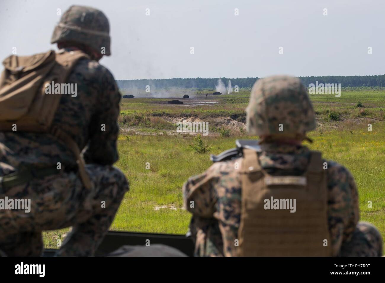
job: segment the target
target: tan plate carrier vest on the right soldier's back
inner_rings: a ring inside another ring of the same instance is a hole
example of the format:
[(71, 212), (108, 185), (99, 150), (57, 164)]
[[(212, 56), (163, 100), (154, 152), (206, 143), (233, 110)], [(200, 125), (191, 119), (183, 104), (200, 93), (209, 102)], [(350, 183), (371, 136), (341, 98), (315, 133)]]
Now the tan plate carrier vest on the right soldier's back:
[[(332, 255), (321, 152), (311, 151), (302, 176), (271, 176), (260, 166), (256, 151), (243, 149), (243, 156), (238, 255)], [(292, 210), (287, 207), (290, 199)]]

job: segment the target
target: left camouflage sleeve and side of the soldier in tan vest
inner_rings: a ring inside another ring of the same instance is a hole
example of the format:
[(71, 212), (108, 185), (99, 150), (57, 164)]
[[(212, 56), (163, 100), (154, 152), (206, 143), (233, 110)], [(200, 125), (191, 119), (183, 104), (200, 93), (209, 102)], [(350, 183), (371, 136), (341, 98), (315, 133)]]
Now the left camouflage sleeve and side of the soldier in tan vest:
[(235, 169), (239, 162), (216, 162), (183, 186), (184, 207), (192, 213), (189, 228), (196, 256), (236, 254), (229, 243), (237, 238), (241, 211), (241, 184)]

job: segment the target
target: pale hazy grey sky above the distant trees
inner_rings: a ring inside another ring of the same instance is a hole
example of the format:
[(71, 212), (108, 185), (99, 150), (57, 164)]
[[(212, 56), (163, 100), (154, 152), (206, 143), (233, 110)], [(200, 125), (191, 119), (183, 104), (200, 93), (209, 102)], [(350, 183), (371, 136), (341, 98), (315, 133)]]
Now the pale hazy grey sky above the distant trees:
[(109, 18), (116, 79), (385, 74), (383, 0), (2, 0), (0, 59), (55, 49), (71, 4)]

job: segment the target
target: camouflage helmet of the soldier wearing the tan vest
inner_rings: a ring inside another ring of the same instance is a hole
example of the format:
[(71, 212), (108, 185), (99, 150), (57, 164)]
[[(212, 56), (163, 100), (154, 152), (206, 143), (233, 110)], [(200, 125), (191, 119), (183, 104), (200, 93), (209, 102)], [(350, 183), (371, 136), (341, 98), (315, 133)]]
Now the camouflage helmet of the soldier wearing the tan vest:
[(257, 80), (246, 113), (247, 131), (258, 136), (308, 139), (305, 133), (316, 127), (307, 89), (295, 77), (278, 75)]

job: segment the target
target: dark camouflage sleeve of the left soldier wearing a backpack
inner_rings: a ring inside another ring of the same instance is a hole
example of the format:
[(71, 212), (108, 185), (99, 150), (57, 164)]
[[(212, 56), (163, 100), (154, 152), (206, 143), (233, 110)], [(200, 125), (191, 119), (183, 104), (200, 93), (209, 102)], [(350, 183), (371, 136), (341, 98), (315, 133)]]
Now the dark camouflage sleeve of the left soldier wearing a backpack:
[(117, 138), (121, 94), (113, 75), (105, 69), (101, 76), (100, 110), (95, 112), (90, 123), (90, 139), (84, 152), (86, 163), (112, 165), (118, 159)]

